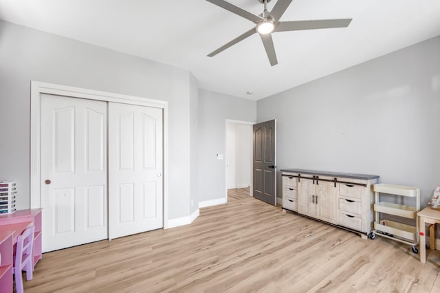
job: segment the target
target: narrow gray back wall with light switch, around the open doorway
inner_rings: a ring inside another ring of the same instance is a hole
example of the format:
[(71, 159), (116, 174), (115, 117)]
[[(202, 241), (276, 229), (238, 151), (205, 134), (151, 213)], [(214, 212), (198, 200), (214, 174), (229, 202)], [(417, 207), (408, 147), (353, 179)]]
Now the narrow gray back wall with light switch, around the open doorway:
[(199, 202), (225, 198), (226, 119), (255, 122), (256, 102), (199, 89)]

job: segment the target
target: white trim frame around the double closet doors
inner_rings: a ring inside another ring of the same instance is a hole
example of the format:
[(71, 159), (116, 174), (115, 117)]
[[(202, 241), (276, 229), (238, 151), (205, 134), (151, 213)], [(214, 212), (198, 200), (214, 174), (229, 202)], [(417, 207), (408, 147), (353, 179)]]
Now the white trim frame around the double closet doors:
[[(30, 93), (30, 208), (41, 208), (41, 94), (53, 94), (104, 102), (120, 102), (163, 109), (164, 228), (168, 228), (168, 102), (106, 91), (31, 81)], [(107, 191), (108, 192), (108, 191)]]

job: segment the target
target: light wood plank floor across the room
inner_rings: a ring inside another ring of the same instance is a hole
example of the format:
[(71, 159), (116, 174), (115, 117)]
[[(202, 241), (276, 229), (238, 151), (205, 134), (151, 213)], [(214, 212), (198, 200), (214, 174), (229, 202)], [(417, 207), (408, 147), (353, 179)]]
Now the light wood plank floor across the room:
[[(439, 292), (440, 257), (230, 191), (188, 226), (43, 255), (25, 292)], [(25, 276), (23, 274), (23, 276)]]

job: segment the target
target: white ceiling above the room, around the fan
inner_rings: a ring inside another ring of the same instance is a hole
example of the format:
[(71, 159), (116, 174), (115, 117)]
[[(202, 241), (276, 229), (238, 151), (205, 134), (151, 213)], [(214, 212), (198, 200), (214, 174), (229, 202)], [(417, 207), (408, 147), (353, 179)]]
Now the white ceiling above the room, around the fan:
[(258, 34), (207, 57), (254, 23), (204, 0), (0, 0), (5, 21), (189, 69), (203, 89), (254, 100), (440, 35), (439, 0), (294, 0), (281, 21), (333, 18), (353, 21), (273, 34), (271, 67)]

